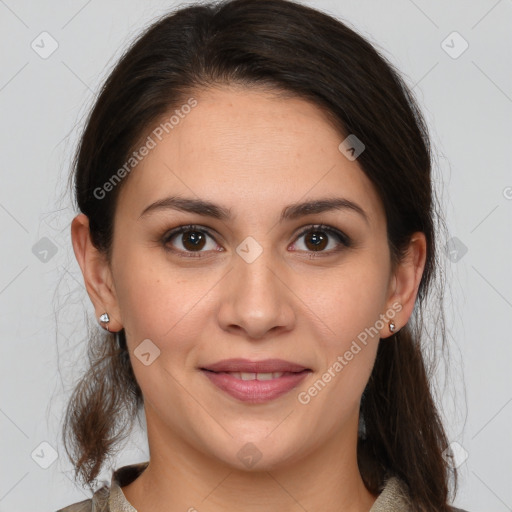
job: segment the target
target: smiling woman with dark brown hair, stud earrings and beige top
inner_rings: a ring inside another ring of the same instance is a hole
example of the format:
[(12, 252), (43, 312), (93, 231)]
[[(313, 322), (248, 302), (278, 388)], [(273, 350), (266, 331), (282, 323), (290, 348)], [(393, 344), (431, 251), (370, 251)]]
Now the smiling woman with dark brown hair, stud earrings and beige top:
[(429, 139), (366, 40), (285, 0), (185, 7), (122, 57), (74, 163), (105, 332), (66, 449), (92, 489), (143, 409), (150, 460), (61, 510), (454, 510)]

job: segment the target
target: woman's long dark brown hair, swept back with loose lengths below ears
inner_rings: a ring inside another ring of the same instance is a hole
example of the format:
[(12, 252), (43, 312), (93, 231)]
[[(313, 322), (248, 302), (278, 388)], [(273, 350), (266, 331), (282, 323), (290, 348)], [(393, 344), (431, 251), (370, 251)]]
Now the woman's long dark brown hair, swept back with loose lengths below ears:
[[(412, 233), (427, 239), (427, 259), (411, 321), (379, 342), (361, 401), (364, 425), (358, 460), (368, 489), (377, 494), (390, 475), (408, 486), (415, 511), (446, 511), (450, 476), (442, 452), (447, 438), (430, 389), (433, 367), (425, 348), (427, 297), (437, 290), (442, 226), (432, 187), (429, 136), (399, 73), (364, 38), (341, 21), (287, 0), (232, 0), (187, 6), (167, 14), (132, 44), (108, 76), (92, 109), (74, 159), (76, 202), (88, 216), (95, 246), (111, 254), (116, 198), (95, 191), (123, 166), (164, 115), (194, 91), (217, 85), (261, 86), (304, 98), (366, 149), (358, 162), (375, 185), (386, 213), (393, 262)], [(98, 331), (100, 331), (98, 329)], [(90, 370), (74, 389), (63, 426), (64, 445), (87, 484), (128, 434), (143, 405), (126, 348), (109, 333), (91, 335)], [(69, 449), (68, 449), (69, 447)]]

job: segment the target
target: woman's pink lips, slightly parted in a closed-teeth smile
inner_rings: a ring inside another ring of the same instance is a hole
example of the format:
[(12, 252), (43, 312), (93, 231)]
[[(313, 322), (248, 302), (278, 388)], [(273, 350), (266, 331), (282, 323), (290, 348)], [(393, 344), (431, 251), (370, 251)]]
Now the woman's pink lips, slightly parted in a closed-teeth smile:
[(285, 395), (312, 372), (310, 368), (281, 359), (229, 359), (200, 370), (217, 389), (251, 404), (265, 403)]

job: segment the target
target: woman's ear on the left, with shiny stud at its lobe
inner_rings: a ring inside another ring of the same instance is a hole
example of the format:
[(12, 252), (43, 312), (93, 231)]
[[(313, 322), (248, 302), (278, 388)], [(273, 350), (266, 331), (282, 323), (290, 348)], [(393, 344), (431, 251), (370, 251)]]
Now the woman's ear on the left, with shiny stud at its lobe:
[(93, 245), (89, 230), (89, 219), (83, 213), (71, 223), (71, 240), (75, 257), (82, 269), (85, 287), (94, 305), (96, 319), (108, 313), (111, 332), (120, 331), (123, 325), (117, 304), (115, 287), (106, 255)]

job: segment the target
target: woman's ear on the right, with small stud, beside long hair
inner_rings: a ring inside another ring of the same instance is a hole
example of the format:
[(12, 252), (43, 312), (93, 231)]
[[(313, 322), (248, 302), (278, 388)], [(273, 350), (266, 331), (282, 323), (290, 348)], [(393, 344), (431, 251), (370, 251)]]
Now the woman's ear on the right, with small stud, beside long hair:
[[(390, 280), (386, 303), (386, 316), (389, 320), (381, 329), (381, 338), (388, 338), (393, 334), (389, 330), (389, 322), (395, 324), (395, 332), (397, 332), (409, 321), (418, 295), (426, 257), (425, 234), (420, 231), (413, 233), (406, 254), (397, 264)], [(389, 314), (391, 311), (395, 312), (394, 317)]]

